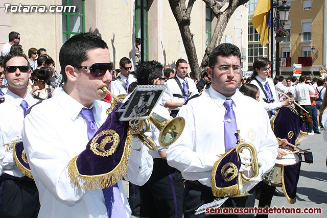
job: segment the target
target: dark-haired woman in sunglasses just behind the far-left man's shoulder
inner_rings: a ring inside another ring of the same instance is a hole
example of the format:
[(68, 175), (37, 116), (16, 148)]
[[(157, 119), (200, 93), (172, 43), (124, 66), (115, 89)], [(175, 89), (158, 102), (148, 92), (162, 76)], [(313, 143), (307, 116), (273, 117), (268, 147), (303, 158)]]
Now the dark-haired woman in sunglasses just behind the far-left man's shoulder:
[(54, 89), (50, 85), (50, 72), (47, 68), (41, 67), (39, 70), (35, 70), (32, 73), (31, 80), (34, 84), (30, 92), (31, 94), (41, 99), (51, 98)]

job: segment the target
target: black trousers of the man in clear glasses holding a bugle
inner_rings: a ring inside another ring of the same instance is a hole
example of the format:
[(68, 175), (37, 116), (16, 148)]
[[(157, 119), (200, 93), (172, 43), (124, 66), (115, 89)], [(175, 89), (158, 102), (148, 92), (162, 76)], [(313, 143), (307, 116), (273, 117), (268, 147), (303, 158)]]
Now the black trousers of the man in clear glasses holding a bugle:
[[(221, 206), (222, 208), (253, 208), (255, 202), (255, 188), (248, 193), (252, 196), (242, 198), (229, 198)], [(204, 217), (254, 217), (254, 214), (205, 214), (194, 215), (194, 211), (201, 205), (211, 203), (215, 197), (210, 187), (204, 186), (198, 181), (186, 182), (183, 197), (184, 218), (204, 218)]]

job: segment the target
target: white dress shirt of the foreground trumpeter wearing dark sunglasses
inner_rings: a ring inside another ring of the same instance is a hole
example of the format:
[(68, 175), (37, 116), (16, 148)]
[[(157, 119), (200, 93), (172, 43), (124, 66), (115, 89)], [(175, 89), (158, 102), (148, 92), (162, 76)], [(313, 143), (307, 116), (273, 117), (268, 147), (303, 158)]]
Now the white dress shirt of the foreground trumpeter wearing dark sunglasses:
[[(110, 104), (94, 101), (92, 106), (100, 127)], [(82, 108), (61, 89), (54, 98), (35, 106), (24, 120), (24, 147), (39, 190), (39, 217), (108, 217), (103, 191), (78, 188), (68, 177), (68, 162), (85, 150), (89, 141), (87, 123), (80, 114)], [(151, 176), (152, 166), (147, 148), (132, 149), (125, 179), (143, 185)], [(118, 187), (126, 215), (130, 217), (122, 181)]]

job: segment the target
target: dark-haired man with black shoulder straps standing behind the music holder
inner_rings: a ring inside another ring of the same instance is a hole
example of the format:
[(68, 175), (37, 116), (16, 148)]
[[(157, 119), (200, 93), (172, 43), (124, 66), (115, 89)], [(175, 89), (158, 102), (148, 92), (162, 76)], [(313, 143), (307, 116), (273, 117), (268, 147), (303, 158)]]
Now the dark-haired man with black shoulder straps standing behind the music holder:
[(194, 94), (199, 93), (194, 81), (188, 74), (188, 62), (178, 59), (175, 65), (176, 76), (167, 80), (168, 89), (162, 95), (162, 104), (169, 108), (175, 117), (184, 103)]

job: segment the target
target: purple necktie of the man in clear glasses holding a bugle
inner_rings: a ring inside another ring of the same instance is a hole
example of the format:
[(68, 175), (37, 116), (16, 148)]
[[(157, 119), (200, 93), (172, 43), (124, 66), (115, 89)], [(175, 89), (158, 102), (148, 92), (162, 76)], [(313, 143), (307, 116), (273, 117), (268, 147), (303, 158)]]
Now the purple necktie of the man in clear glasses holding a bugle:
[(233, 101), (231, 99), (226, 99), (224, 102), (224, 106), (226, 108), (224, 116), (225, 151), (237, 146), (238, 133), (232, 104)]

